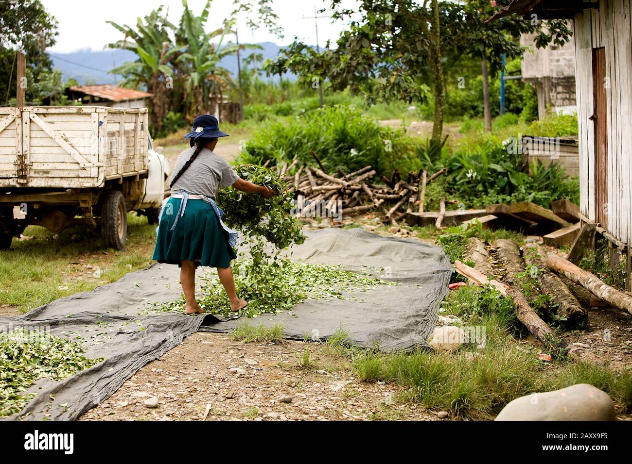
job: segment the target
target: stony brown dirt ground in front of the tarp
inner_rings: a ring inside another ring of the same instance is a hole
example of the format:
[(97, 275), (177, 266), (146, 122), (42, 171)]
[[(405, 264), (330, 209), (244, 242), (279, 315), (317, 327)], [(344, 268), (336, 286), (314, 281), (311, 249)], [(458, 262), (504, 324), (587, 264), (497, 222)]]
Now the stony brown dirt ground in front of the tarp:
[[(310, 364), (301, 367), (306, 349)], [(348, 360), (325, 345), (242, 343), (198, 332), (140, 369), (80, 420), (441, 420), (439, 415), (447, 415), (401, 402), (401, 393), (401, 387), (357, 381)], [(151, 397), (158, 399), (155, 408), (144, 403)]]

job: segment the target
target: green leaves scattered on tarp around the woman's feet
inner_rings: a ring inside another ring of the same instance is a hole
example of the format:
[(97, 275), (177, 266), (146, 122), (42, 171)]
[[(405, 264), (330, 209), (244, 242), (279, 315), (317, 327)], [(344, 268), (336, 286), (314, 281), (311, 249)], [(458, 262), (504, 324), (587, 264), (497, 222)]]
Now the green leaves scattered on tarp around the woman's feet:
[[(394, 282), (371, 277), (367, 273), (346, 271), (338, 266), (327, 266), (276, 259), (255, 264), (252, 259), (236, 261), (233, 266), (237, 294), (248, 302), (240, 314), (256, 318), (258, 314), (291, 311), (295, 304), (307, 299), (344, 299), (344, 292), (367, 289)], [(205, 312), (228, 316), (231, 304), (217, 276), (202, 277), (198, 304)], [(184, 298), (165, 304), (155, 304), (149, 311), (184, 312)]]

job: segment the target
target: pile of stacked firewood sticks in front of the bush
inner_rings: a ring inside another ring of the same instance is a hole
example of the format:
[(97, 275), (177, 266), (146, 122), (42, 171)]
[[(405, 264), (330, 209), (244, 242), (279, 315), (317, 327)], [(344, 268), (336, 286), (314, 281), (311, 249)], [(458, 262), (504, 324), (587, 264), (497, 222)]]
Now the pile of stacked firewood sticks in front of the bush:
[[(428, 175), (427, 170), (408, 172), (406, 177), (394, 170), (391, 177), (382, 175), (380, 182), (374, 182), (377, 174), (372, 166), (344, 174), (341, 170), (330, 174), (319, 158), (313, 154), (319, 167), (300, 165), (295, 160), (291, 164), (277, 165), (276, 172), (289, 184), (289, 191), (295, 193), (298, 208), (306, 215), (319, 203), (325, 205), (327, 213), (337, 211), (342, 205), (342, 214), (362, 211), (379, 211), (385, 222), (398, 226), (407, 213), (423, 212), (423, 199), (428, 182), (444, 174), (446, 169)], [(291, 170), (294, 175), (286, 175)], [(446, 200), (442, 199), (445, 210)], [(398, 226), (399, 227), (399, 226)]]

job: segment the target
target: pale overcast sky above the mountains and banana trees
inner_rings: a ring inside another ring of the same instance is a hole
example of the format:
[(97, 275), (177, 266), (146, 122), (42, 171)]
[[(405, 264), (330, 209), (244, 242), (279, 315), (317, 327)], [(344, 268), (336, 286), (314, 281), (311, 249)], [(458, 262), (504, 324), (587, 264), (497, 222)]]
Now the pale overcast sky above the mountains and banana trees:
[[(47, 11), (59, 22), (57, 44), (49, 51), (58, 53), (73, 52), (79, 49), (102, 50), (104, 45), (121, 39), (122, 34), (106, 21), (114, 21), (120, 25), (136, 25), (138, 16), (148, 15), (152, 9), (164, 4), (169, 8), (169, 20), (175, 24), (182, 15), (181, 0), (107, 0), (90, 3), (80, 0), (42, 0)], [(206, 0), (188, 0), (189, 8), (200, 13)], [(354, 0), (345, 2), (345, 6), (353, 6)], [(279, 25), (283, 28), (283, 39), (267, 33), (265, 30), (251, 32), (245, 29), (243, 19), (238, 22), (240, 42), (276, 42), (287, 45), (295, 35), (308, 44), (315, 44), (314, 20), (303, 19), (313, 16), (314, 6), (319, 9), (329, 6), (329, 1), (322, 0), (274, 0), (273, 9), (279, 16)], [(221, 27), (224, 18), (233, 11), (233, 0), (214, 0), (210, 7), (209, 30)], [(320, 16), (320, 15), (319, 15)], [(343, 23), (332, 24), (331, 19), (319, 20), (319, 45), (325, 45), (327, 39), (336, 40)]]

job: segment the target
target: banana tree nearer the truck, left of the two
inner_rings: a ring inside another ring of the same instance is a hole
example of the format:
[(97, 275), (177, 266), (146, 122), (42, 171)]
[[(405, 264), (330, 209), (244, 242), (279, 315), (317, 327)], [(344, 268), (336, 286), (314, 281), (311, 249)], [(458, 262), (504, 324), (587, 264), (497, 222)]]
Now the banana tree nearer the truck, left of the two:
[(129, 50), (138, 54), (137, 61), (126, 62), (111, 73), (125, 77), (124, 85), (138, 87), (144, 85), (150, 97), (149, 121), (152, 131), (156, 133), (162, 128), (166, 116), (169, 98), (167, 93), (173, 89), (173, 66), (170, 61), (178, 54), (171, 34), (176, 27), (162, 14), (162, 6), (154, 9), (148, 16), (138, 18), (134, 28), (120, 26), (114, 21), (107, 21), (112, 27), (125, 34), (125, 38), (107, 46), (112, 49)]

